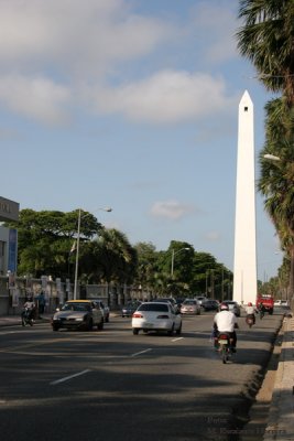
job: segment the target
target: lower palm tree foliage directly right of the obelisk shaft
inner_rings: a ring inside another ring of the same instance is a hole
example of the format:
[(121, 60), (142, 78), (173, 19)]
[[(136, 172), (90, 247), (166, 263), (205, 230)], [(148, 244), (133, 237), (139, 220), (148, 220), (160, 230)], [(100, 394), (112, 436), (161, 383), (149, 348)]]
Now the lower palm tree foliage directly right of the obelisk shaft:
[[(277, 232), (281, 247), (291, 261), (290, 294), (294, 295), (294, 125), (292, 109), (281, 112), (283, 103), (268, 104), (266, 136), (260, 154), (261, 178), (259, 190), (265, 196), (264, 207)], [(279, 161), (268, 161), (265, 153), (273, 153)]]

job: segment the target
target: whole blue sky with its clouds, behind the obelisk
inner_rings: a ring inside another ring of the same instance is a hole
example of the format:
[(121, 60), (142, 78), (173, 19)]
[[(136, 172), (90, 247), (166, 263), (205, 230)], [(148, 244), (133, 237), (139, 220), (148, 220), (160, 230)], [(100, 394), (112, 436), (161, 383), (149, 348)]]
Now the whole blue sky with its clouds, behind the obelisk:
[[(0, 0), (0, 195), (233, 270), (238, 106), (248, 90), (258, 180), (273, 97), (238, 53), (238, 6)], [(268, 281), (282, 252), (258, 193), (257, 250)]]

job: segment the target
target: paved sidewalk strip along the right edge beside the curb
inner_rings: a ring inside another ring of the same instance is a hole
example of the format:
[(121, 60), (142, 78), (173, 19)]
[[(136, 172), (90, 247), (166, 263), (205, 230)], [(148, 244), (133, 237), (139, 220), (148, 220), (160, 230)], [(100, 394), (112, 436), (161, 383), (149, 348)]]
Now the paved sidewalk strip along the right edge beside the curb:
[(272, 404), (263, 441), (294, 440), (294, 319), (285, 318)]

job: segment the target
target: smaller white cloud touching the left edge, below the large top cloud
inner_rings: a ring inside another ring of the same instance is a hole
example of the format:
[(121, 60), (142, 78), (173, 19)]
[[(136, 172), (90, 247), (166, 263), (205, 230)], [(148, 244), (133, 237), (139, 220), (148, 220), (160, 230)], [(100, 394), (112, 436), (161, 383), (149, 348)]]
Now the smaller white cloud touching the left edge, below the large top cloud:
[(64, 105), (70, 94), (66, 87), (43, 77), (0, 76), (0, 104), (8, 109), (51, 125), (67, 121)]

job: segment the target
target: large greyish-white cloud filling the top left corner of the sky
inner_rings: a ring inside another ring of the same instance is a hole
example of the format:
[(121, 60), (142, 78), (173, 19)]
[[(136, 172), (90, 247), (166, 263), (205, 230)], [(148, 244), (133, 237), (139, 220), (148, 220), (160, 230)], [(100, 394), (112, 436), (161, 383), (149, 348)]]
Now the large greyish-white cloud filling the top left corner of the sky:
[(175, 30), (132, 14), (123, 0), (0, 1), (0, 61), (26, 69), (57, 63), (81, 78), (143, 56)]

